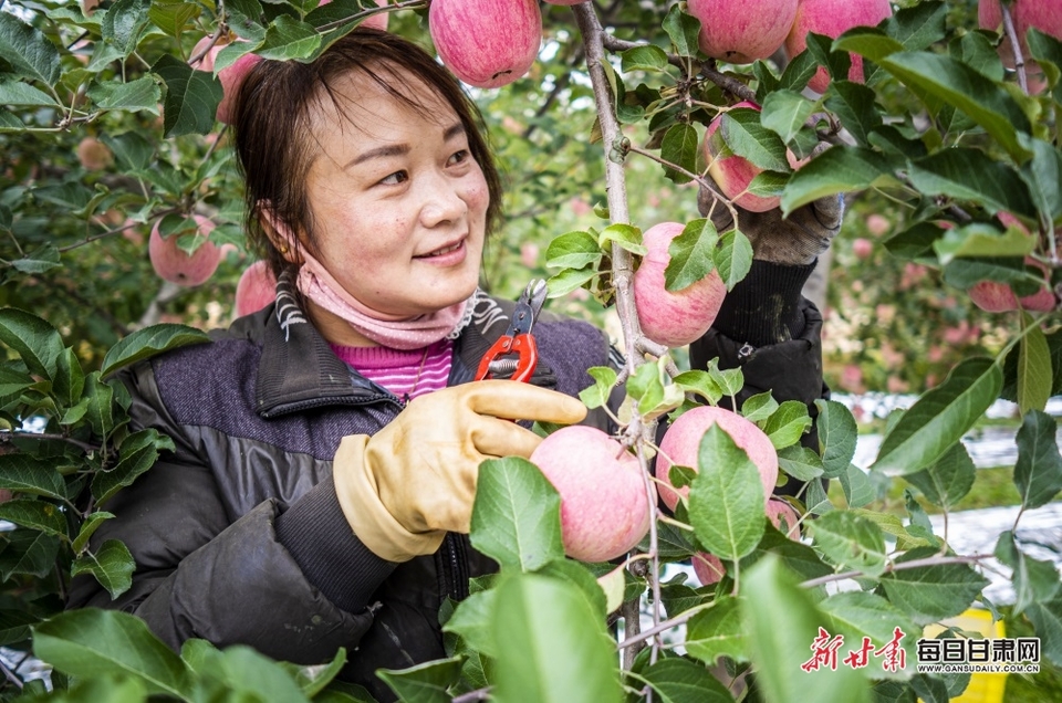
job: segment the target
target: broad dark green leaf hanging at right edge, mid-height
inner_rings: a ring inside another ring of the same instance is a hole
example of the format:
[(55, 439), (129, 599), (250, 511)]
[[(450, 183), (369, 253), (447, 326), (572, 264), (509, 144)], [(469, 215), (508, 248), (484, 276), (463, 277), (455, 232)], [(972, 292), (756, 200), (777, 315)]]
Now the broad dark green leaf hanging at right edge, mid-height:
[(1055, 439), (1058, 423), (1040, 410), (1030, 410), (1018, 429), (1014, 485), (1022, 510), (1040, 507), (1062, 491), (1062, 455)]

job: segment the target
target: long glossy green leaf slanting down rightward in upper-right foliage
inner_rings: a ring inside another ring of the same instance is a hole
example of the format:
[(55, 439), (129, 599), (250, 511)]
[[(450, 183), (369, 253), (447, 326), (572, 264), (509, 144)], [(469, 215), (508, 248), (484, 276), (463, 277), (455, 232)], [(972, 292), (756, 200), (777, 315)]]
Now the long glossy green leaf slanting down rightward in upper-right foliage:
[(1030, 132), (1029, 117), (1001, 85), (950, 56), (930, 52), (895, 53), (877, 63), (919, 95), (961, 109), (1016, 161), (1029, 158), (1017, 138), (1018, 132)]

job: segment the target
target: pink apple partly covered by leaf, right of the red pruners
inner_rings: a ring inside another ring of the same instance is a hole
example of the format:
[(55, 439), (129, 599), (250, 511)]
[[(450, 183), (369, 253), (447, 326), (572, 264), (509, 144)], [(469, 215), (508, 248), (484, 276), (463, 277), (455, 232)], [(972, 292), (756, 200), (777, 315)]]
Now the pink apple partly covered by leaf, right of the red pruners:
[(648, 252), (634, 273), (634, 304), (642, 332), (668, 347), (680, 347), (704, 336), (727, 295), (727, 286), (715, 269), (681, 291), (665, 287), (664, 271), (671, 260), (667, 248), (683, 229), (678, 222), (662, 222), (646, 230), (642, 241)]

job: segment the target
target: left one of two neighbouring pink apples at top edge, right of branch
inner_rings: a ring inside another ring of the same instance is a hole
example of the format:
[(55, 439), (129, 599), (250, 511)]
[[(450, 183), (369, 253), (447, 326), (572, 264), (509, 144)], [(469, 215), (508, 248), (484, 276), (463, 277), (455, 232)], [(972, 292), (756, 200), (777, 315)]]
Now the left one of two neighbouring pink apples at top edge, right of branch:
[(796, 0), (689, 0), (700, 20), (700, 50), (720, 61), (752, 63), (785, 41), (796, 19)]

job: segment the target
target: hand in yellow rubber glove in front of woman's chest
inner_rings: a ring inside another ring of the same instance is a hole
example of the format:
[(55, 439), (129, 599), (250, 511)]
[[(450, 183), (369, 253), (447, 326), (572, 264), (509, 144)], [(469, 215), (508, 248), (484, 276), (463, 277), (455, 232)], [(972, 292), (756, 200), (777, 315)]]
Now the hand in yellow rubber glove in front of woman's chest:
[(511, 420), (572, 424), (585, 416), (576, 398), (509, 380), (420, 396), (376, 434), (343, 438), (332, 468), (340, 506), (377, 556), (434, 554), (447, 532), (469, 531), (480, 462), (528, 458), (542, 441)]

